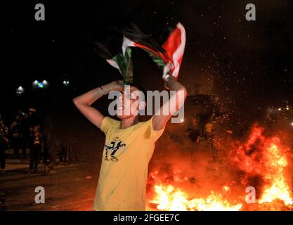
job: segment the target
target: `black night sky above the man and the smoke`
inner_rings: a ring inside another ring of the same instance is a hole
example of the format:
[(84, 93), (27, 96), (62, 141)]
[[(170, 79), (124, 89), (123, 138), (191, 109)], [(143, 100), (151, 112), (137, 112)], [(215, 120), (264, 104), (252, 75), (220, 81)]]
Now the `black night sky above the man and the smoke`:
[[(46, 20), (34, 20), (34, 6), (46, 7)], [(245, 6), (256, 5), (256, 21)], [(136, 23), (160, 44), (179, 21), (187, 35), (179, 80), (188, 94), (219, 96), (235, 117), (249, 120), (276, 101), (293, 104), (293, 1), (13, 1), (4, 5), (8, 39), (1, 73), (1, 113), (18, 105), (41, 105), (32, 94), (35, 79), (46, 79), (44, 96), (71, 109), (71, 98), (121, 79), (93, 50), (107, 27)], [(161, 72), (147, 54), (134, 50), (134, 80), (162, 89)], [(70, 80), (66, 90), (63, 79)], [(25, 96), (15, 97), (24, 86)], [(49, 96), (49, 97), (48, 97)], [(41, 106), (39, 106), (41, 107)], [(57, 107), (57, 106), (56, 106)], [(7, 115), (6, 115), (7, 116)]]

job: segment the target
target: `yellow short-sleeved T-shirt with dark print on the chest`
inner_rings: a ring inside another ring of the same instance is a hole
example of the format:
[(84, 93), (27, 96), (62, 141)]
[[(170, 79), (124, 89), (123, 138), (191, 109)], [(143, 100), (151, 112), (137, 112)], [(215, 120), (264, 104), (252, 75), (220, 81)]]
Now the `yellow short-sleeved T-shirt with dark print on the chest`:
[(105, 117), (106, 135), (93, 209), (96, 211), (145, 210), (148, 163), (164, 129), (155, 131), (152, 119), (119, 129), (120, 122)]

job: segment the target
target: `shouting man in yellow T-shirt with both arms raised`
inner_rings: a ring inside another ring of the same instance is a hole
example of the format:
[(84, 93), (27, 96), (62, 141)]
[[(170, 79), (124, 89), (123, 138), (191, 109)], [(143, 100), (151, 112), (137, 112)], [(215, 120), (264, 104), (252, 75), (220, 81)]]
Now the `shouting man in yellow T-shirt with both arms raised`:
[[(138, 122), (139, 107), (125, 113), (126, 107), (134, 105), (135, 98), (129, 98), (120, 81), (93, 89), (74, 98), (74, 104), (81, 113), (105, 133), (105, 147), (96, 190), (93, 210), (145, 210), (148, 163), (155, 148), (155, 142), (162, 135), (164, 127), (176, 110), (183, 106), (186, 89), (174, 77), (169, 77), (166, 86), (176, 91), (176, 104), (170, 103), (169, 114), (154, 115), (147, 122)], [(130, 94), (138, 89), (130, 87)], [(117, 103), (117, 117), (113, 120), (103, 116), (91, 104), (110, 91), (122, 91)], [(184, 98), (178, 98), (183, 94)], [(170, 100), (169, 100), (170, 101)]]

